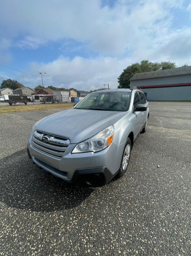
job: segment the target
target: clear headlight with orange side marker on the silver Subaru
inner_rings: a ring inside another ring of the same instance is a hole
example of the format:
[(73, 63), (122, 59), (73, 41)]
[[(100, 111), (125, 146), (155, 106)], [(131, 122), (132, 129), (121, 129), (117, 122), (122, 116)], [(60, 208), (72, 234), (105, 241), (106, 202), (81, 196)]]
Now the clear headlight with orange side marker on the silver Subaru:
[(111, 144), (113, 136), (114, 126), (111, 125), (97, 133), (94, 137), (77, 144), (72, 153), (97, 152), (105, 149)]

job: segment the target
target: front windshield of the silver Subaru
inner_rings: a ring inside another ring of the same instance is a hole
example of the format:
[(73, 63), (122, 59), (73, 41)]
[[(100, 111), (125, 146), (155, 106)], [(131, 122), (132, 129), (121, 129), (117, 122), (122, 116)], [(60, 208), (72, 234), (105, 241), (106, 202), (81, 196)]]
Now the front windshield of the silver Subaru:
[(75, 108), (106, 111), (127, 111), (130, 92), (91, 93), (79, 102)]

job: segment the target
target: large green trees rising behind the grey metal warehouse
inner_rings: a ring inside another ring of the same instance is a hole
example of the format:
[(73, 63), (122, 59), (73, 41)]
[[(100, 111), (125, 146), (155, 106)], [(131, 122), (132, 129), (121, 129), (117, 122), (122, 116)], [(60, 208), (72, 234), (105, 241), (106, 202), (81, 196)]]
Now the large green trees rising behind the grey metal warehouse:
[(123, 69), (122, 74), (117, 78), (118, 79), (118, 88), (129, 88), (130, 87), (130, 79), (136, 73), (156, 71), (160, 69), (169, 69), (176, 68), (176, 64), (174, 62), (162, 61), (151, 62), (148, 60), (142, 60), (140, 63), (134, 63), (128, 66), (126, 69)]

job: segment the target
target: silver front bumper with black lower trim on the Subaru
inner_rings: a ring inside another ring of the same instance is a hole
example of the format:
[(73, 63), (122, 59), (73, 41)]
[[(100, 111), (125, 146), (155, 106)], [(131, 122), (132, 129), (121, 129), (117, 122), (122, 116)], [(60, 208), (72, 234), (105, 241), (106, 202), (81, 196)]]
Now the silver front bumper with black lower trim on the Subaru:
[(54, 176), (77, 185), (98, 187), (107, 184), (117, 173), (124, 145), (112, 143), (100, 152), (71, 154), (75, 144), (70, 144), (62, 159), (50, 157), (35, 149), (29, 138), (28, 154), (32, 162)]

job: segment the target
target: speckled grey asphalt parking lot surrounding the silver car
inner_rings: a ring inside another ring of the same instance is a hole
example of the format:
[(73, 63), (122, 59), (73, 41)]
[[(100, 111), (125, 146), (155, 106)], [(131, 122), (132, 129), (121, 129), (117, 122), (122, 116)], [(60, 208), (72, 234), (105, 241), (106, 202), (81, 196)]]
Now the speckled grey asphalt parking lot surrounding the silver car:
[(60, 110), (0, 115), (0, 255), (190, 255), (191, 104), (151, 102), (128, 172), (101, 188), (29, 161), (33, 124)]

